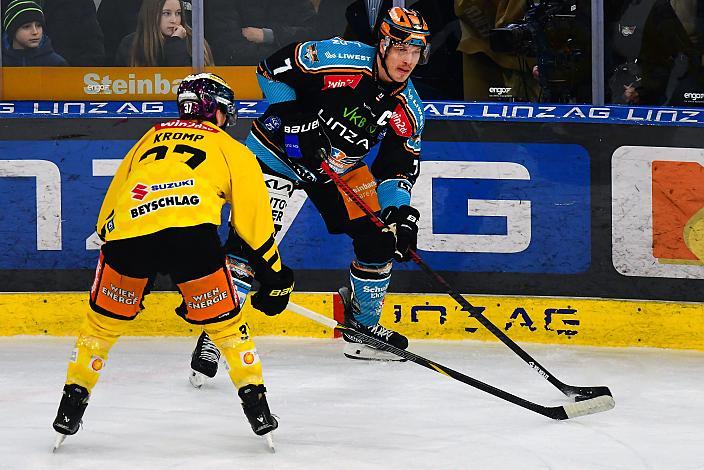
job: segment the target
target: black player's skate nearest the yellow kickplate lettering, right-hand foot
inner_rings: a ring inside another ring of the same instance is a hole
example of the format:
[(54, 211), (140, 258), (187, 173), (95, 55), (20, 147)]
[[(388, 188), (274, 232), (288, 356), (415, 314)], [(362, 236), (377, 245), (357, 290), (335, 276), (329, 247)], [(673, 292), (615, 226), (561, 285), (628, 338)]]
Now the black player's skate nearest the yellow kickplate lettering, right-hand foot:
[[(342, 287), (338, 291), (342, 298), (342, 304), (345, 308), (345, 325), (354, 328), (355, 330), (371, 336), (374, 339), (383, 341), (398, 349), (406, 349), (408, 347), (408, 338), (401, 333), (383, 327), (381, 324), (364, 326), (354, 318), (353, 302), (349, 288)], [(366, 361), (399, 361), (403, 362), (406, 359), (401, 358), (390, 352), (383, 351), (373, 346), (360, 343), (355, 338), (342, 333), (342, 338), (345, 340), (344, 355), (350, 359), (361, 359)]]

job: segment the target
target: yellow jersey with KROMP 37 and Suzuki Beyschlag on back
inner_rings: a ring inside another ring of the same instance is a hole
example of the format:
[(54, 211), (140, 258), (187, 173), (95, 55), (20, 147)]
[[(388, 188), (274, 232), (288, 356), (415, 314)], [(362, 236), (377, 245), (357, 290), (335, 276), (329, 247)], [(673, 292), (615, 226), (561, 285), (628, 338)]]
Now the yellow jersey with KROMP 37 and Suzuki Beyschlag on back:
[(220, 225), (226, 202), (235, 232), (252, 249), (262, 248), (264, 261), (280, 271), (269, 195), (254, 154), (210, 122), (177, 119), (152, 127), (127, 153), (103, 200), (97, 230), (110, 241), (170, 227)]

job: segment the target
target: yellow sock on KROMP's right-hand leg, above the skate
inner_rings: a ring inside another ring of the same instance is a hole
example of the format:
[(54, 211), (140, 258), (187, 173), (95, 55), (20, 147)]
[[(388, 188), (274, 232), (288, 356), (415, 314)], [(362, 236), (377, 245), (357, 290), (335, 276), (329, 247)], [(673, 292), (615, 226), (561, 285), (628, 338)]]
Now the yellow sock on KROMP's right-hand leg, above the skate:
[(221, 323), (208, 324), (205, 331), (225, 357), (230, 380), (237, 389), (264, 383), (262, 363), (242, 313)]

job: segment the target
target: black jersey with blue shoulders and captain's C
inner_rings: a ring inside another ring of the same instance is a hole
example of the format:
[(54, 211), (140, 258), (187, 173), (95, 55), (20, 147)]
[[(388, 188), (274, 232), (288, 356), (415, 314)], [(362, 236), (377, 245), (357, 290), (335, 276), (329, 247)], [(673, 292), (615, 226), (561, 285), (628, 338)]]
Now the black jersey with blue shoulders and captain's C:
[[(394, 187), (409, 193), (419, 172), (423, 106), (410, 80), (379, 81), (375, 63), (375, 47), (333, 38), (291, 44), (264, 60), (257, 73), (270, 103), (295, 101), (296, 107), (318, 115), (336, 172), (355, 167), (381, 142), (372, 174), (380, 185), (395, 181)], [(286, 175), (280, 163), (296, 164), (274, 137), (280, 126), (280, 119), (265, 113), (252, 134), (281, 160), (264, 163)]]

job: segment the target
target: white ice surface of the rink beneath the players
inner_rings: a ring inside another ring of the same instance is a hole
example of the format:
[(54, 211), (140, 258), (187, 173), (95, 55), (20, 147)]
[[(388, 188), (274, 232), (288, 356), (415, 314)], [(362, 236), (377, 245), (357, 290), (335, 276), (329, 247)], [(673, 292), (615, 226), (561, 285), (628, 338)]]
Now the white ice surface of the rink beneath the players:
[[(84, 427), (56, 454), (51, 422), (71, 338), (0, 338), (2, 469), (704, 469), (704, 353), (523, 345), (563, 382), (607, 385), (616, 408), (552, 421), (407, 363), (345, 359), (340, 340), (258, 338), (276, 454), (224, 369), (187, 380), (194, 338), (122, 338)], [(411, 349), (544, 405), (566, 398), (498, 343)]]

